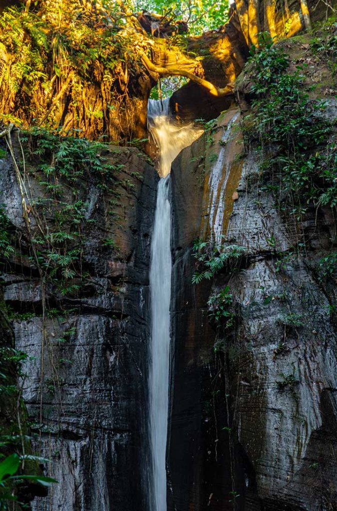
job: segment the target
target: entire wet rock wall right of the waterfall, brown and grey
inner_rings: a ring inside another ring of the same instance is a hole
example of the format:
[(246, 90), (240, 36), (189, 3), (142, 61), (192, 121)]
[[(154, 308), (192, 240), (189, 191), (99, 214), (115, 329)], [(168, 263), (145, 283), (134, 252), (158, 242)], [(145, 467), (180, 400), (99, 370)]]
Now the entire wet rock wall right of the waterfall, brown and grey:
[[(172, 167), (169, 509), (231, 509), (233, 487), (244, 511), (333, 509), (336, 286), (319, 280), (316, 265), (331, 250), (334, 219), (328, 209), (309, 210), (295, 226), (280, 213), (261, 190), (257, 154), (242, 152), (234, 118), (230, 110), (213, 142), (205, 133)], [(238, 317), (224, 354), (215, 357), (212, 284), (191, 284), (191, 245), (221, 234), (247, 254), (240, 271), (213, 282), (229, 283)], [(298, 256), (299, 241), (306, 253)]]

